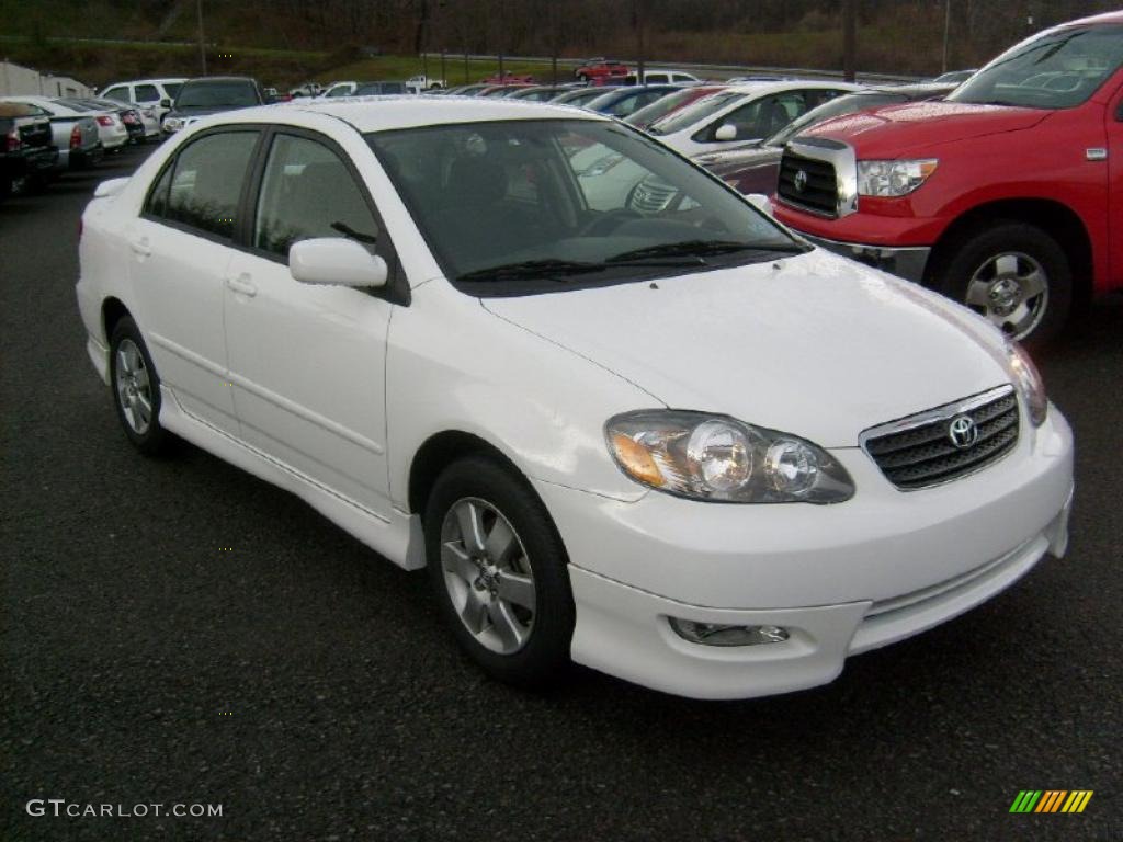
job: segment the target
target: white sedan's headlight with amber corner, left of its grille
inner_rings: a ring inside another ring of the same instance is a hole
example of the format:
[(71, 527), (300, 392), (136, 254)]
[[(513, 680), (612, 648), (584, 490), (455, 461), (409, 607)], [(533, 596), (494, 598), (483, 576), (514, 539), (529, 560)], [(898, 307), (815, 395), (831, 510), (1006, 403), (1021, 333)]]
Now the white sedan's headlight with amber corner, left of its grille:
[(818, 445), (724, 415), (641, 410), (604, 427), (617, 465), (638, 483), (721, 503), (841, 503), (846, 468)]

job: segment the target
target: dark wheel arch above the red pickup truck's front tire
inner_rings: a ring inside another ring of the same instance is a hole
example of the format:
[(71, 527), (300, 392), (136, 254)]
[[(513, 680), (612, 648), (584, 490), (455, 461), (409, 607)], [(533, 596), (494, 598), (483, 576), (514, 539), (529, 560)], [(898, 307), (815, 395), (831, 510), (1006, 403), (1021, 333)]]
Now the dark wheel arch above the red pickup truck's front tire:
[(996, 222), (1024, 222), (1049, 232), (1063, 249), (1072, 269), (1072, 304), (1090, 302), (1095, 286), (1095, 265), (1088, 229), (1068, 205), (1052, 199), (1002, 199), (976, 205), (960, 214), (935, 241), (924, 273), (924, 286), (933, 287), (951, 254), (985, 226)]

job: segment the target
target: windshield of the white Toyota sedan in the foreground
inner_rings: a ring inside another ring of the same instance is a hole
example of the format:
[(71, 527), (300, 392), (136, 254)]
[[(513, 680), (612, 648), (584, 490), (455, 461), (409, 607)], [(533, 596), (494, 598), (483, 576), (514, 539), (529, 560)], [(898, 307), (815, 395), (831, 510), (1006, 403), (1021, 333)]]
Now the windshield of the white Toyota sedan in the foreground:
[(622, 283), (805, 250), (737, 193), (617, 122), (455, 123), (367, 140), (446, 276), (472, 294)]

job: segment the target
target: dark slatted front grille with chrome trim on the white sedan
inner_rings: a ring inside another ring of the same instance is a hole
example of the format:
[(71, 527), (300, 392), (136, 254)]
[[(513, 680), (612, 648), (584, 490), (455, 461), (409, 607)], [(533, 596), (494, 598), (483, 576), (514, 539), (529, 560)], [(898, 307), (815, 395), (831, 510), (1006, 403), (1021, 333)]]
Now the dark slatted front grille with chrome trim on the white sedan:
[[(969, 418), (978, 432), (966, 447), (957, 446), (951, 434), (952, 421), (961, 417)], [(891, 483), (914, 491), (1001, 459), (1017, 443), (1017, 397), (1012, 386), (1003, 386), (867, 430), (861, 442)]]

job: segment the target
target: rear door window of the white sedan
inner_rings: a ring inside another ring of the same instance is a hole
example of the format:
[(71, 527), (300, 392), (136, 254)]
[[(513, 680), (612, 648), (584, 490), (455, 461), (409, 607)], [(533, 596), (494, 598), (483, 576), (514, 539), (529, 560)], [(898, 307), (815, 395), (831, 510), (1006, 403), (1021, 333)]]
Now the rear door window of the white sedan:
[(207, 234), (234, 236), (238, 198), (256, 131), (223, 131), (190, 143), (172, 168), (167, 219)]

